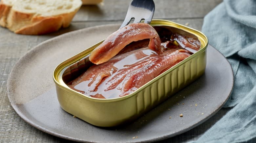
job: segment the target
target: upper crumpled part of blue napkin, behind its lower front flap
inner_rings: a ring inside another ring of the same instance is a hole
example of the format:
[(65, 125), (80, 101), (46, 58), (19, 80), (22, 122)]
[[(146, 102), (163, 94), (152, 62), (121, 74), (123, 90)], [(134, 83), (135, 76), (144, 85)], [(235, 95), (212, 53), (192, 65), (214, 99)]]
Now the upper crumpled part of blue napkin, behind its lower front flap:
[(233, 107), (256, 83), (256, 1), (224, 0), (205, 16), (202, 31), (232, 66), (234, 88), (224, 107)]

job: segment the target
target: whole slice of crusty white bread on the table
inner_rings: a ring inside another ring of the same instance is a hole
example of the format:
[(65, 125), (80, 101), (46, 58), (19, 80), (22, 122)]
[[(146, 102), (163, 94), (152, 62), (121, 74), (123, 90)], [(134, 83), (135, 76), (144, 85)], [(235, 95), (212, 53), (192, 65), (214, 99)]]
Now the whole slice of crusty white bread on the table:
[(68, 27), (81, 5), (81, 0), (1, 0), (0, 25), (17, 34), (46, 34)]

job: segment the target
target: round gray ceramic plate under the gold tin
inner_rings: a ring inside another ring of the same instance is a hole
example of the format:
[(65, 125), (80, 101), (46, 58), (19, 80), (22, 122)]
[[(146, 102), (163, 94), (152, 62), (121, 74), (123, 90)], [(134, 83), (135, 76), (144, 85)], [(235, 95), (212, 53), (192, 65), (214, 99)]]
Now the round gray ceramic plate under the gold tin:
[(54, 68), (105, 39), (118, 27), (102, 25), (63, 34), (23, 56), (11, 71), (7, 84), (8, 97), (17, 114), (35, 128), (69, 140), (148, 142), (186, 132), (224, 105), (233, 87), (233, 72), (224, 56), (209, 45), (205, 74), (135, 122), (111, 129), (99, 128), (66, 113), (57, 101), (52, 79)]

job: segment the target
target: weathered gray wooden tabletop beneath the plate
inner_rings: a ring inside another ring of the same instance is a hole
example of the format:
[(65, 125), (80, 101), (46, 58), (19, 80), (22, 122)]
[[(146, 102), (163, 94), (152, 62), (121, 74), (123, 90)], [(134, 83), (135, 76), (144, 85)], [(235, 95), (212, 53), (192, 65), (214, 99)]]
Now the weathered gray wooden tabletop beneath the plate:
[[(154, 19), (171, 20), (201, 30), (203, 17), (221, 2), (222, 0), (155, 0)], [(47, 39), (95, 25), (121, 24), (129, 3), (130, 0), (105, 0), (101, 5), (82, 6), (68, 28), (48, 35), (17, 35), (0, 27), (0, 142), (68, 142), (32, 127), (16, 114), (7, 97), (8, 75), (21, 56)], [(160, 142), (196, 140), (228, 110), (221, 109), (198, 127)]]

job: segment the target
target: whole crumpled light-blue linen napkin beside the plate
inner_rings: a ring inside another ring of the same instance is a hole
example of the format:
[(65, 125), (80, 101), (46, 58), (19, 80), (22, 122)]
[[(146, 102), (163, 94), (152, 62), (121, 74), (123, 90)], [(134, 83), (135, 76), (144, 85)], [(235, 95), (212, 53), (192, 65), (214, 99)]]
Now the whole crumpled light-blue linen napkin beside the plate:
[(195, 142), (256, 142), (256, 0), (224, 0), (204, 17), (202, 32), (230, 62), (233, 107)]

